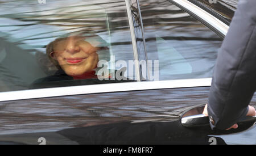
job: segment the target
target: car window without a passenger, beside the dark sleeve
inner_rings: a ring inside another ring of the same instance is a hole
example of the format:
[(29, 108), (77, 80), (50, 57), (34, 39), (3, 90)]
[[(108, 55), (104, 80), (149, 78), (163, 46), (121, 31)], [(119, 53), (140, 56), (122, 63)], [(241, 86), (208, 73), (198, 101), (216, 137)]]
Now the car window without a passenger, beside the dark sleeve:
[(169, 1), (140, 3), (150, 80), (211, 78), (221, 37)]

